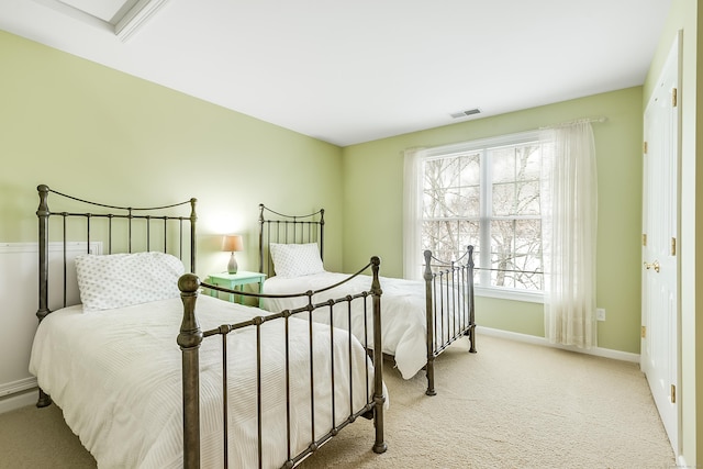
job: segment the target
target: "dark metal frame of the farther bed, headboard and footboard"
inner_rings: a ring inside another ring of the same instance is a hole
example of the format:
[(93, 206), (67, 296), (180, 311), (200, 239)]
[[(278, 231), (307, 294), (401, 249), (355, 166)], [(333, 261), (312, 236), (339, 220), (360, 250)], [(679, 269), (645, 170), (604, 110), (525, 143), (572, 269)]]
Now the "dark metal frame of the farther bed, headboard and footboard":
[[(287, 215), (259, 204), (259, 272), (275, 275), (270, 243), (317, 243), (324, 256), (324, 209), (306, 215)], [(323, 258), (324, 259), (324, 258)], [(473, 246), (457, 260), (443, 261), (424, 252), (425, 314), (427, 327), (427, 390), (436, 395), (434, 361), (449, 345), (468, 336), (476, 354)]]

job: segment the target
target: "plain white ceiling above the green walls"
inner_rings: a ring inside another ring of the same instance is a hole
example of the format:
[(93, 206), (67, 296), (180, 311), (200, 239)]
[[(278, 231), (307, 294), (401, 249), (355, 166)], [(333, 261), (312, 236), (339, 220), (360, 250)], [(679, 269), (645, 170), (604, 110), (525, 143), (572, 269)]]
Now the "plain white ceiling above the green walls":
[(168, 0), (126, 40), (66, 8), (115, 2), (0, 0), (0, 29), (339, 146), (641, 85), (671, 4)]

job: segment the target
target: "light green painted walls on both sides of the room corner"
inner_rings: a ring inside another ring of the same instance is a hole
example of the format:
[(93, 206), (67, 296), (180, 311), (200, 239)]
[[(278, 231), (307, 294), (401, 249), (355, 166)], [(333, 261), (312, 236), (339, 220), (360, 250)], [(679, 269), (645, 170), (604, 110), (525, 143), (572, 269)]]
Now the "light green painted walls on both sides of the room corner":
[[(599, 345), (639, 350), (639, 87), (338, 148), (9, 33), (0, 32), (0, 242), (35, 241), (38, 183), (124, 205), (196, 197), (201, 276), (226, 264), (217, 246), (228, 232), (245, 235), (242, 268), (257, 268), (259, 202), (324, 206), (330, 269), (378, 255), (383, 275), (402, 276), (405, 148), (604, 116), (594, 124), (598, 304), (607, 313)], [(477, 305), (481, 325), (543, 335), (538, 303)]]

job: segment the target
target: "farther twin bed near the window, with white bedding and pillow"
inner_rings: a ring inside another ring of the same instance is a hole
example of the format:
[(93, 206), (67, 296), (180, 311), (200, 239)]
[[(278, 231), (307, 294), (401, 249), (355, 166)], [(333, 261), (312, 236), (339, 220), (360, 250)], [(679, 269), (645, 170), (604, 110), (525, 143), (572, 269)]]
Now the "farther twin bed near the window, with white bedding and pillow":
[[(317, 290), (347, 277), (330, 272), (323, 266), (324, 214), (323, 209), (289, 215), (259, 204), (259, 271), (267, 276), (265, 293)], [(426, 369), (427, 395), (436, 394), (434, 360), (450, 344), (468, 336), (469, 351), (476, 353), (472, 256), (472, 246), (468, 246), (457, 260), (448, 263), (425, 250), (424, 280), (381, 279), (383, 354), (394, 360), (404, 379)], [(368, 288), (370, 283), (370, 277), (357, 276), (324, 294), (344, 295), (354, 289)], [(264, 308), (271, 311), (301, 305), (301, 299), (295, 298), (264, 299)], [(328, 323), (327, 317), (320, 314), (313, 319)], [(349, 321), (339, 319), (342, 321), (335, 325), (349, 328)], [(364, 312), (355, 311), (350, 328), (358, 338), (365, 336), (366, 322)]]

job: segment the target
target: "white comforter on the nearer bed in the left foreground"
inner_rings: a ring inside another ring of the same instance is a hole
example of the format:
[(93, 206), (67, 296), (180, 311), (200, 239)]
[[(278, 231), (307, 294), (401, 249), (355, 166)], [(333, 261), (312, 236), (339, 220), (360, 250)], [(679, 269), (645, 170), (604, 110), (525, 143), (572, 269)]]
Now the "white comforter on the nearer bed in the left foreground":
[[(205, 295), (198, 299), (203, 331), (260, 314), (266, 312)], [(182, 303), (172, 299), (92, 313), (71, 306), (53, 312), (40, 324), (30, 371), (62, 407), (67, 424), (100, 468), (182, 467), (181, 353), (176, 344), (181, 317)], [(267, 322), (261, 327), (265, 468), (286, 460), (282, 323)], [(311, 437), (306, 328), (306, 322), (290, 321), (293, 455)], [(314, 359), (316, 438), (330, 431), (332, 422), (330, 331), (321, 328), (324, 333), (314, 340), (322, 350)], [(341, 331), (335, 334), (337, 423), (349, 411), (347, 336)], [(257, 467), (254, 354), (253, 330), (230, 334), (230, 467)], [(367, 402), (366, 369), (372, 366), (356, 340), (353, 356), (354, 409), (358, 410)], [(200, 362), (202, 465), (222, 467), (220, 338), (203, 342)], [(369, 377), (372, 383), (372, 372)]]

